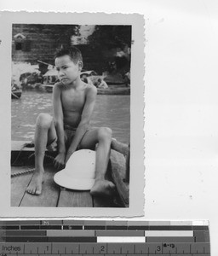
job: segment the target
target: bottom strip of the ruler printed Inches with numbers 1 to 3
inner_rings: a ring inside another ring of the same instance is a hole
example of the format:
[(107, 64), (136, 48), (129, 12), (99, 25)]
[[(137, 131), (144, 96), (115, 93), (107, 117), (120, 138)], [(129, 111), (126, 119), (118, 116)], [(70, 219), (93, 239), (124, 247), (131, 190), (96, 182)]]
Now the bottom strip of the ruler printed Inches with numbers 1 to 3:
[(206, 254), (209, 256), (209, 243), (0, 243), (1, 254)]

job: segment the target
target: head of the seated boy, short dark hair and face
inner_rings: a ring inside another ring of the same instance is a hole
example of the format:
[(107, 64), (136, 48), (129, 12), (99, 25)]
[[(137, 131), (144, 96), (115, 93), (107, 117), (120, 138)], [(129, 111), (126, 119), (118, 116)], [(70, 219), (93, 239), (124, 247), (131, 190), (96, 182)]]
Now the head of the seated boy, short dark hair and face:
[(61, 47), (54, 55), (55, 67), (59, 72), (59, 79), (63, 84), (72, 84), (80, 79), (83, 68), (83, 57), (76, 47)]

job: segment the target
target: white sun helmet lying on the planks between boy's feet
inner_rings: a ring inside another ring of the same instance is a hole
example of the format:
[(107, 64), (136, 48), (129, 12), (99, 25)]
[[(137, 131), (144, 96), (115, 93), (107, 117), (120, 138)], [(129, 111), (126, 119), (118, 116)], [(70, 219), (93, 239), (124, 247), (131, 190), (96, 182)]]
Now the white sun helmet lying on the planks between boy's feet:
[(64, 170), (54, 175), (54, 182), (66, 189), (89, 190), (95, 183), (95, 151), (77, 150)]

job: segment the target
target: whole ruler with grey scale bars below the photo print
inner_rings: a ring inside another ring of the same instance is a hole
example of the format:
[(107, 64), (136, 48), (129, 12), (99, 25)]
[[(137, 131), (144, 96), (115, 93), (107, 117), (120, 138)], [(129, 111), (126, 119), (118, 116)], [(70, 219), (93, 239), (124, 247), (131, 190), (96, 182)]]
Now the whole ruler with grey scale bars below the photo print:
[(0, 256), (209, 256), (205, 221), (0, 221)]

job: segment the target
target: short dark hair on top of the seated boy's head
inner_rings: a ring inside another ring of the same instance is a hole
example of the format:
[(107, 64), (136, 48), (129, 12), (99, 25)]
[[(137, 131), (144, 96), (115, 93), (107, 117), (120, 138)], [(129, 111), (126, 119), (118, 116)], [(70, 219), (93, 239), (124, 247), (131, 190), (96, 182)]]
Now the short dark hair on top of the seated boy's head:
[(77, 47), (71, 46), (61, 46), (60, 49), (57, 49), (54, 54), (54, 60), (58, 57), (69, 55), (74, 63), (77, 63), (77, 61), (83, 61), (82, 53)]

